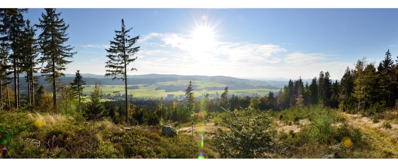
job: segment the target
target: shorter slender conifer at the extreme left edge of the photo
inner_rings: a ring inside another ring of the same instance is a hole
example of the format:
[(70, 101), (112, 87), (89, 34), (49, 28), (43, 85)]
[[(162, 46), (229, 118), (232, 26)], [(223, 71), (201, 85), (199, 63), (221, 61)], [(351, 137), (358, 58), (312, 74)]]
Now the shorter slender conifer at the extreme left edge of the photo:
[(8, 93), (8, 84), (10, 84), (11, 65), (8, 64), (7, 57), (10, 52), (7, 44), (2, 42), (0, 44), (0, 96), (1, 96), (1, 108), (4, 109), (6, 105), (8, 109), (11, 109), (10, 94)]

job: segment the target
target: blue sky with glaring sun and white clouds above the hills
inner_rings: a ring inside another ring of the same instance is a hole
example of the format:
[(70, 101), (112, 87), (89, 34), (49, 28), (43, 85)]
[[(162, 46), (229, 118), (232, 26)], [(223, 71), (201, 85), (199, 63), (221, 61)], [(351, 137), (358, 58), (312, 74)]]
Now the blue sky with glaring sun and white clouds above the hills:
[[(29, 9), (38, 23), (44, 9)], [(105, 73), (121, 19), (140, 35), (130, 75), (340, 78), (363, 56), (398, 54), (397, 9), (57, 9), (78, 52), (65, 73)], [(38, 32), (40, 33), (40, 32)]]

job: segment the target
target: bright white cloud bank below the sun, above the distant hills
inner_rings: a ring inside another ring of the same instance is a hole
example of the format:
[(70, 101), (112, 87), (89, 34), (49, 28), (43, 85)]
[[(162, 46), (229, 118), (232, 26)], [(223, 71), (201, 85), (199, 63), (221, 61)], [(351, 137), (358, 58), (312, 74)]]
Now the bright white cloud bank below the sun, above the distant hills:
[[(201, 39), (203, 40), (203, 39)], [(352, 66), (342, 62), (338, 55), (323, 53), (289, 52), (277, 44), (261, 44), (238, 40), (220, 42), (205, 38), (205, 42), (192, 35), (178, 33), (149, 33), (141, 35), (141, 46), (131, 63), (138, 71), (129, 75), (160, 73), (179, 75), (225, 75), (232, 77), (291, 77), (312, 78), (320, 71), (329, 71), (333, 79), (339, 78), (341, 69)], [(285, 43), (284, 43), (285, 44)], [(282, 44), (282, 45), (284, 45)], [(289, 44), (290, 43), (286, 43)], [(84, 45), (86, 48), (106, 48), (101, 44)], [(103, 74), (100, 62), (76, 64), (89, 68), (88, 73)]]

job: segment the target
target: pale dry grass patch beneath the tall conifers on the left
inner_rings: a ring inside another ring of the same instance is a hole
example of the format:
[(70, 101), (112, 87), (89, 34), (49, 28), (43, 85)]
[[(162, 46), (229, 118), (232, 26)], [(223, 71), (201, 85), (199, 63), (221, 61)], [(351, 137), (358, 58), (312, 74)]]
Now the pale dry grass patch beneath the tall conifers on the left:
[(66, 121), (73, 119), (72, 116), (61, 115), (61, 114), (40, 114), (40, 113), (29, 113), (28, 117), (35, 122), (36, 127), (51, 126), (59, 123), (66, 123)]

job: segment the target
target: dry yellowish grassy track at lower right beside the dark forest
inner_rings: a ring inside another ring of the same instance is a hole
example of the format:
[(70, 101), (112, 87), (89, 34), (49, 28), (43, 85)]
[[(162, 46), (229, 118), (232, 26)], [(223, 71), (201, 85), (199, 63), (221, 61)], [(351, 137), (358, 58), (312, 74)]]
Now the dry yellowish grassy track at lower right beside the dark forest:
[(361, 129), (363, 138), (368, 140), (377, 150), (391, 152), (393, 157), (398, 157), (398, 125), (393, 124), (392, 129), (382, 128), (383, 120), (373, 123), (371, 119), (361, 115), (346, 114), (355, 127)]

